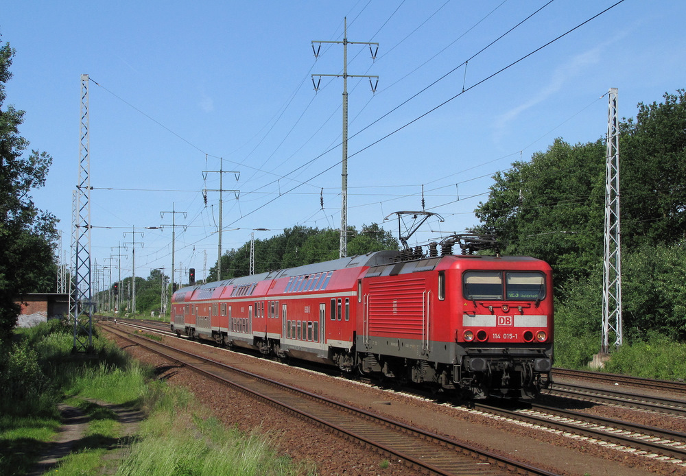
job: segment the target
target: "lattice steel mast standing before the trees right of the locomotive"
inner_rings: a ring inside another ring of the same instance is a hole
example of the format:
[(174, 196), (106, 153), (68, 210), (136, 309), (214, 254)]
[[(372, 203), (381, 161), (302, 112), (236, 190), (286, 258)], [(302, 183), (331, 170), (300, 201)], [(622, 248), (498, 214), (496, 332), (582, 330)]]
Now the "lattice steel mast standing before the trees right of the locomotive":
[(622, 246), (619, 233), (619, 130), (617, 88), (610, 88), (605, 169), (605, 247), (603, 253), (603, 315), (601, 353), (622, 345)]

